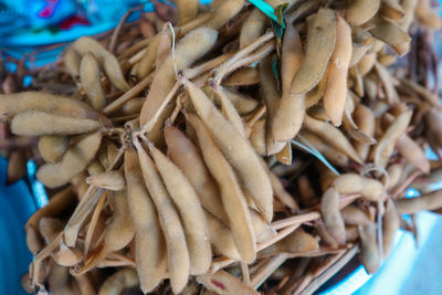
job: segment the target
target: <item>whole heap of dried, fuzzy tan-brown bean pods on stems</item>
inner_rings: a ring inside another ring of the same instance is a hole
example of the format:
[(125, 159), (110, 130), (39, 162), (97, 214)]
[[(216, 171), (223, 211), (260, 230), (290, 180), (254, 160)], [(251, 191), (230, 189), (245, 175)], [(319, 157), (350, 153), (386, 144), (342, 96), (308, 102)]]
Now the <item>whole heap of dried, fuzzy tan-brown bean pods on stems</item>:
[(176, 2), (0, 95), (51, 194), (23, 287), (313, 293), (442, 208), (430, 1), (265, 1), (285, 29), (243, 0)]

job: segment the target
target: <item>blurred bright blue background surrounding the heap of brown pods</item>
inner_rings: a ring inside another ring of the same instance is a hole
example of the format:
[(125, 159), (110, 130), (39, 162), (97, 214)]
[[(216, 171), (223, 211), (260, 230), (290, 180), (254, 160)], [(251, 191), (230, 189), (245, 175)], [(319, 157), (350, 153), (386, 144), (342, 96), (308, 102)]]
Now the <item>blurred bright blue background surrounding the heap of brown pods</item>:
[[(81, 35), (108, 35), (127, 11), (134, 10), (126, 22), (134, 22), (143, 17), (141, 13), (152, 11), (157, 2), (0, 0), (1, 86), (11, 92), (17, 85), (20, 89), (30, 87), (34, 83), (33, 71), (51, 67), (50, 63), (55, 62), (71, 41)], [(434, 41), (441, 56), (442, 35), (439, 36)], [(4, 128), (0, 128), (1, 133), (6, 133)], [(429, 157), (434, 155), (429, 154)], [(0, 294), (27, 294), (21, 289), (20, 277), (28, 271), (32, 255), (25, 245), (23, 228), (32, 212), (48, 202), (43, 185), (34, 178), (35, 164), (29, 161), (23, 167), (27, 170), (24, 179), (9, 179), (8, 161), (0, 158), (0, 232), (3, 233), (0, 238)], [(410, 190), (409, 197), (417, 193)], [(411, 233), (400, 232), (394, 251), (378, 274), (368, 275), (354, 261), (318, 293), (440, 294), (442, 221), (435, 214), (423, 212), (417, 215), (417, 224), (418, 240)]]

